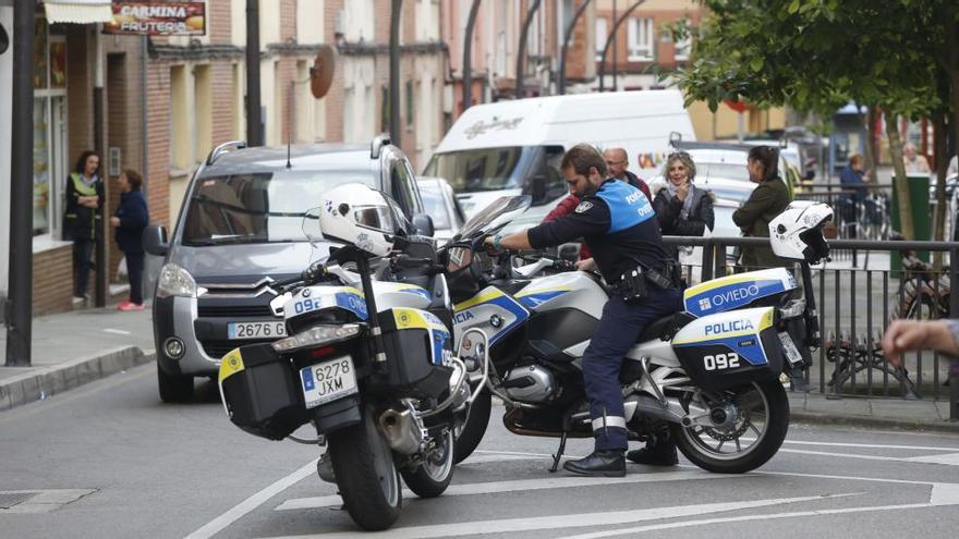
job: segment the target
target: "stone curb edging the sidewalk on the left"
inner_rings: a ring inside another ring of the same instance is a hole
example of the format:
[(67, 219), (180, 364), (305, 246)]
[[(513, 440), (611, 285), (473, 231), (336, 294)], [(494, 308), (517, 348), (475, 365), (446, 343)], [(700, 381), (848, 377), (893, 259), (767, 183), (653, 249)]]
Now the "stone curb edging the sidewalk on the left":
[(0, 412), (41, 401), (50, 395), (156, 360), (156, 352), (120, 346), (59, 365), (0, 380)]

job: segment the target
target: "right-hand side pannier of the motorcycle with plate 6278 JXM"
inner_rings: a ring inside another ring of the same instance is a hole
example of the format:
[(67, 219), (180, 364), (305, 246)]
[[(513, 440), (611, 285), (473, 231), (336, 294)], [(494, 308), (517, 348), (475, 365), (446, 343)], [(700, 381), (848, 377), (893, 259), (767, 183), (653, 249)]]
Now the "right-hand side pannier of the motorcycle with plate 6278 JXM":
[(374, 391), (415, 399), (449, 391), (452, 342), (447, 327), (429, 311), (398, 307), (379, 314), (387, 372), (374, 375)]

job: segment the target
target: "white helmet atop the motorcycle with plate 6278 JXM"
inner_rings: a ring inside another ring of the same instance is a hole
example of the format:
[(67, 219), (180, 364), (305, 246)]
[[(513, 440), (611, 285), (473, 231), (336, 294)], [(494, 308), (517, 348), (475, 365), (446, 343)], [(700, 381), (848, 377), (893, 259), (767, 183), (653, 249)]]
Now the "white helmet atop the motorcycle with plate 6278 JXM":
[(397, 225), (386, 196), (368, 185), (348, 183), (323, 196), (319, 228), (327, 240), (386, 256), (393, 248)]

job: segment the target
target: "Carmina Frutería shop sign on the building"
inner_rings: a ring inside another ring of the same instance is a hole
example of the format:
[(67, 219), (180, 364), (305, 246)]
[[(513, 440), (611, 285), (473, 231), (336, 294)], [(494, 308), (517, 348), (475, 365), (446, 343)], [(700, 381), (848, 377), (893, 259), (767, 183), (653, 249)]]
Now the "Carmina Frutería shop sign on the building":
[(113, 21), (104, 34), (202, 36), (206, 34), (204, 2), (113, 2)]

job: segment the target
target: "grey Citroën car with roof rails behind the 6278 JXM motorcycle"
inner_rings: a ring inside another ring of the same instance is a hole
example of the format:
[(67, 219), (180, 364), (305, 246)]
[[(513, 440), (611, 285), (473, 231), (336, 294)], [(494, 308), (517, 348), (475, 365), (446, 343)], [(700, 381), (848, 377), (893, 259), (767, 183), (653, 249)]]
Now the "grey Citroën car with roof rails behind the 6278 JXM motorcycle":
[(153, 306), (157, 381), (163, 402), (189, 400), (195, 377), (214, 377), (240, 344), (284, 336), (269, 302), (271, 283), (329, 253), (303, 233), (305, 212), (336, 185), (361, 182), (390, 194), (421, 234), (433, 234), (413, 170), (380, 136), (369, 146), (215, 148), (193, 174), (170, 238), (144, 232), (146, 250), (163, 257)]

